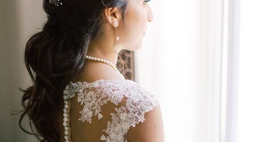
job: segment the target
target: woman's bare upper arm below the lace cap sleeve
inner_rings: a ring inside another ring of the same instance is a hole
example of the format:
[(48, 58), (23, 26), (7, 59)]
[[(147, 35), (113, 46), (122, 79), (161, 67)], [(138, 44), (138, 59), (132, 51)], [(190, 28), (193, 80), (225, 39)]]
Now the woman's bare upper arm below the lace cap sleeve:
[(144, 115), (144, 122), (131, 127), (127, 132), (127, 141), (163, 142), (164, 130), (160, 105)]

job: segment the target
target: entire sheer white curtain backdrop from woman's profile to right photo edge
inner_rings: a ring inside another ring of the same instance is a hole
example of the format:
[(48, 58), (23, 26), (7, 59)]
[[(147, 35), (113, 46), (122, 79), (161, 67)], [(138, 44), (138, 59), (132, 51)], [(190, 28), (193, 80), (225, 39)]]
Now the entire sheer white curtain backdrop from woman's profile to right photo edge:
[(136, 80), (160, 100), (166, 141), (256, 141), (256, 2), (150, 6)]

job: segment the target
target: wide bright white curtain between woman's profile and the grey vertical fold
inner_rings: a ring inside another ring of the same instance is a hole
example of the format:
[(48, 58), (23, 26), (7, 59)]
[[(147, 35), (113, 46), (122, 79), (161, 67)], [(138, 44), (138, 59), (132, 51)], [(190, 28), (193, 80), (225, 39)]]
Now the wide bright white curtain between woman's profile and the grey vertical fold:
[(135, 78), (162, 104), (166, 141), (213, 142), (224, 135), (224, 3), (149, 2), (154, 21), (148, 23), (143, 47), (135, 51)]

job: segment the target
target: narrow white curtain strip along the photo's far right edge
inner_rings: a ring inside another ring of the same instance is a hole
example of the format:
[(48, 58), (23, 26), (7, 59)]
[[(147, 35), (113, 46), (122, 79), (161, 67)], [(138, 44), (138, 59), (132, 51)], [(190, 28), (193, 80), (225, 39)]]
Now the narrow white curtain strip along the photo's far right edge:
[(237, 142), (256, 141), (256, 1), (240, 2)]

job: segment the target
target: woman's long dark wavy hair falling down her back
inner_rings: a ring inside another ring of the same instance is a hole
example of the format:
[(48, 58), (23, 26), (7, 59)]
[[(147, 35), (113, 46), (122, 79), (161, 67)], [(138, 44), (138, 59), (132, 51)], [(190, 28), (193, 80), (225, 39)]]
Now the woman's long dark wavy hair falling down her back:
[[(24, 64), (32, 86), (19, 90), (22, 96), (20, 128), (40, 141), (60, 141), (53, 116), (63, 101), (63, 90), (80, 73), (90, 41), (102, 35), (103, 11), (108, 7), (122, 10), (125, 25), (127, 0), (61, 0), (58, 7), (43, 1), (47, 21), (26, 43)], [(105, 6), (102, 5), (104, 2)], [(119, 55), (118, 55), (119, 56)], [(120, 57), (120, 56), (119, 56)], [(28, 115), (32, 132), (25, 130), (22, 119)], [(32, 126), (35, 126), (36, 131)], [(41, 137), (41, 138), (40, 138)], [(42, 138), (43, 137), (43, 138)], [(63, 137), (64, 139), (64, 137)]]

